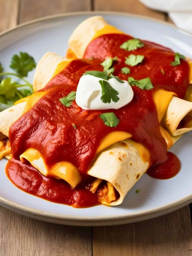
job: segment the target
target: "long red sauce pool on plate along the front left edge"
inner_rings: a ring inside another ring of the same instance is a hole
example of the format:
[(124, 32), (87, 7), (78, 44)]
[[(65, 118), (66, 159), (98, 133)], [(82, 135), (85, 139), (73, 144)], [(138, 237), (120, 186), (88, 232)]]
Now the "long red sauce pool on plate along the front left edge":
[(71, 188), (67, 182), (44, 177), (31, 165), (22, 164), (16, 159), (8, 162), (6, 174), (21, 190), (54, 203), (68, 204), (78, 208), (99, 204), (99, 190), (95, 194), (88, 190), (93, 181), (92, 177), (89, 177), (86, 183)]

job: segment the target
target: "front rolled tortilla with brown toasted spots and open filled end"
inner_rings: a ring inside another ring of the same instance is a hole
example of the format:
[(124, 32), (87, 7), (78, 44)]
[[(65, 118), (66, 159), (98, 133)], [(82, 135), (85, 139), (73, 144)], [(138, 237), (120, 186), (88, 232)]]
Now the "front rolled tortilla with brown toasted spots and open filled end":
[[(143, 158), (138, 147), (147, 153)], [(131, 139), (119, 141), (98, 154), (88, 174), (110, 182), (119, 192), (120, 197), (108, 205), (122, 203), (127, 192), (140, 179), (149, 167), (150, 154), (140, 143)], [(102, 204), (107, 204), (102, 202)]]

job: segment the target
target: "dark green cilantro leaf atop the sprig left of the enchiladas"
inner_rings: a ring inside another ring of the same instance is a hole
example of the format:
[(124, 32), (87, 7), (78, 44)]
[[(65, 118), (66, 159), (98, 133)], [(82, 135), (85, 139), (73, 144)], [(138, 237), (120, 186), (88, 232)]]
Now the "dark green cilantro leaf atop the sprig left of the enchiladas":
[(36, 67), (35, 60), (28, 53), (20, 52), (19, 54), (13, 55), (10, 68), (14, 69), (22, 77), (27, 77), (28, 72)]

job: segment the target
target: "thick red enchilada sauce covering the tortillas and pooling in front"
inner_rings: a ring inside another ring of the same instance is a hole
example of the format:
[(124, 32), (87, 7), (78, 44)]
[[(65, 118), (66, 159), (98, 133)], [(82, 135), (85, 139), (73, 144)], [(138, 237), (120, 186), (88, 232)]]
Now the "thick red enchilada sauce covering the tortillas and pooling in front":
[[(84, 57), (96, 59), (70, 62), (41, 90), (48, 90), (46, 95), (11, 126), (9, 138), (14, 159), (7, 165), (7, 176), (17, 187), (41, 198), (75, 207), (98, 204), (98, 192), (92, 194), (88, 191), (90, 176), (87, 176), (86, 172), (95, 158), (101, 139), (112, 131), (131, 133), (133, 140), (149, 149), (150, 164), (158, 165), (159, 170), (166, 162), (166, 173), (169, 173), (169, 168), (172, 168), (172, 164), (169, 163), (172, 160), (170, 161), (167, 144), (159, 130), (157, 110), (152, 96), (156, 89), (161, 88), (176, 92), (180, 98), (183, 98), (188, 86), (189, 65), (181, 61), (180, 65), (171, 66), (175, 56), (173, 51), (147, 41), (143, 41), (144, 47), (134, 51), (120, 49), (119, 46), (129, 39), (131, 37), (128, 35), (116, 34), (94, 39), (88, 45)], [(122, 74), (121, 68), (127, 66), (125, 57), (130, 54), (144, 55), (145, 59), (142, 64), (129, 67), (131, 74), (125, 75)], [(102, 71), (103, 67), (100, 63), (109, 56), (118, 57), (114, 65), (114, 75), (123, 80), (127, 80), (128, 76), (137, 80), (150, 77), (155, 89), (147, 91), (133, 86), (133, 100), (118, 110), (83, 110), (75, 101), (72, 102), (71, 107), (63, 106), (59, 98), (76, 91), (79, 79), (85, 71)], [(161, 69), (165, 74), (161, 73)], [(99, 115), (106, 112), (115, 113), (120, 120), (116, 128), (104, 125)], [(76, 129), (72, 124), (76, 125)], [(19, 156), (28, 148), (37, 149), (49, 166), (60, 161), (71, 162), (82, 173), (82, 180), (85, 183), (73, 189), (65, 181), (43, 177), (33, 167), (19, 161)], [(175, 160), (175, 163), (176, 169), (175, 166), (172, 169), (179, 171), (179, 161)], [(175, 175), (171, 172), (171, 175), (166, 176), (165, 172), (161, 174), (161, 171), (152, 171), (152, 169), (150, 173), (158, 178)], [(60, 191), (61, 187), (62, 191)]]

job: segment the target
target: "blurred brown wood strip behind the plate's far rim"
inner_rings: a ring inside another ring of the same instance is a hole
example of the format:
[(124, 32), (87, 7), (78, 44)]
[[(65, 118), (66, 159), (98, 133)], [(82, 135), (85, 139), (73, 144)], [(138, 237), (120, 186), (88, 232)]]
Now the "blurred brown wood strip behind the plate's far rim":
[(166, 12), (149, 9), (139, 0), (0, 0), (0, 32), (29, 20), (74, 11), (127, 12), (171, 22)]

